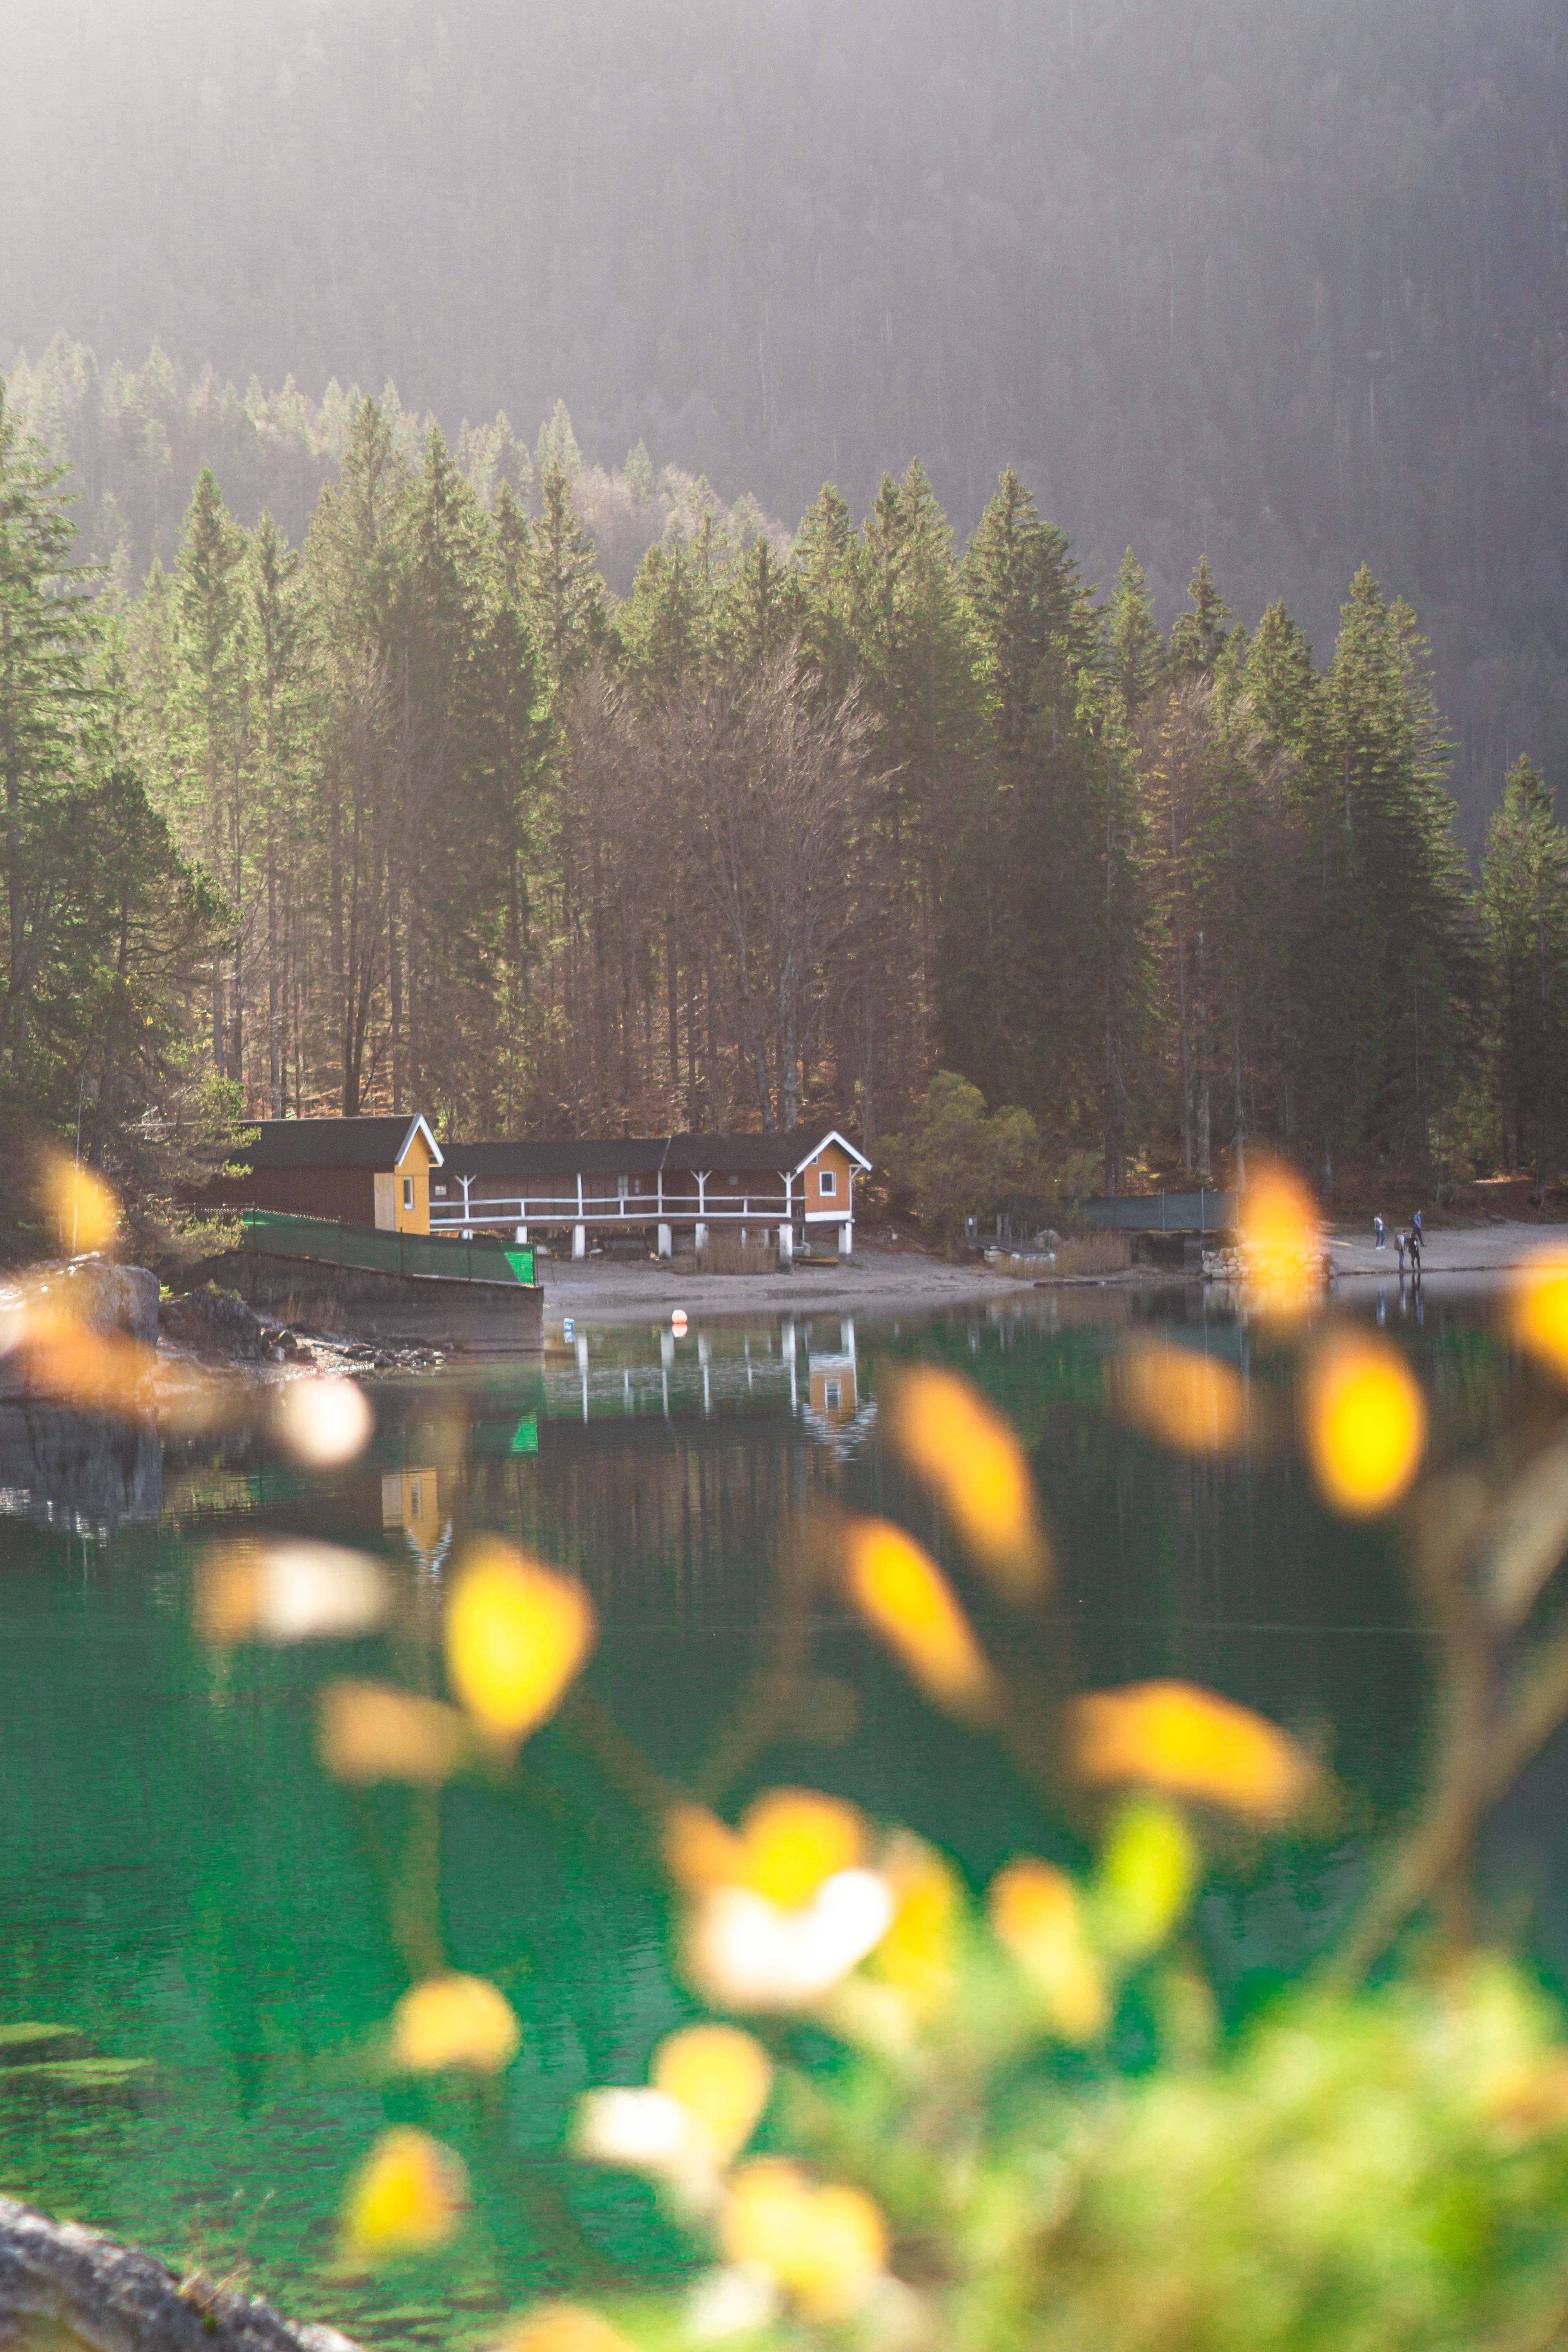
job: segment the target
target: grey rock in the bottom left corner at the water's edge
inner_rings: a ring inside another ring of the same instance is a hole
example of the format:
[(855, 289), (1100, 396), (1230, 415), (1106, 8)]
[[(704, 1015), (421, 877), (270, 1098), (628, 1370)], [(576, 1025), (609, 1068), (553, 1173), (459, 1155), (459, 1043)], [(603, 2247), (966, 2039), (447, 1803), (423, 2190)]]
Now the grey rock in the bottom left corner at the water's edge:
[(355, 2352), (336, 2328), (0, 2197), (0, 2352)]

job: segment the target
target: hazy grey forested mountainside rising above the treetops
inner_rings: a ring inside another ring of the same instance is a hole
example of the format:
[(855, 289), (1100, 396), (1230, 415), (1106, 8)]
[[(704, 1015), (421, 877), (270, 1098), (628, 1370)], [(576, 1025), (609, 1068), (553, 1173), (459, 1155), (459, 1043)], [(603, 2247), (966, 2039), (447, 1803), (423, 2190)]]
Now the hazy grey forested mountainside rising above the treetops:
[[(0, 353), (381, 386), (856, 510), (1004, 461), (1171, 621), (1415, 600), (1469, 844), (1568, 750), (1561, 0), (7, 0)], [(216, 388), (214, 388), (216, 393)], [(214, 461), (221, 449), (209, 452)], [(228, 470), (226, 470), (228, 473)], [(317, 480), (299, 485), (299, 508)], [(190, 475), (169, 480), (176, 527)], [(242, 489), (230, 496), (242, 503)]]

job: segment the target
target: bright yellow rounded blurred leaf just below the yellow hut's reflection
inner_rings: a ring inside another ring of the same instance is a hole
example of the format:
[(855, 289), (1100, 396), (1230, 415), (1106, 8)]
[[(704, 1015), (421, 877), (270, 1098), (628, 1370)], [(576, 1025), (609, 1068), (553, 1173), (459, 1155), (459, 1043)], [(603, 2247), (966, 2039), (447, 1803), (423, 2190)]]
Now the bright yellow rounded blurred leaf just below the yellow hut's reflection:
[(447, 1675), (491, 1738), (522, 1740), (555, 1715), (592, 1635), (583, 1585), (487, 1538), (447, 1602)]

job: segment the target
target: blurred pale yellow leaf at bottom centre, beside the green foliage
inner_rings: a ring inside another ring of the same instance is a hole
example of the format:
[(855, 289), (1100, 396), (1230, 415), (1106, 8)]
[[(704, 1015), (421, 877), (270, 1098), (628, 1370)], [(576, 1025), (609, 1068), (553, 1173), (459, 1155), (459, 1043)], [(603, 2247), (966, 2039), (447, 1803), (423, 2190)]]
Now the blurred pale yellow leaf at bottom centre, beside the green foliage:
[(882, 2277), (889, 2230), (863, 2190), (813, 2187), (783, 2159), (745, 2164), (724, 2199), (724, 2256), (769, 2272), (802, 2317), (851, 2319)]

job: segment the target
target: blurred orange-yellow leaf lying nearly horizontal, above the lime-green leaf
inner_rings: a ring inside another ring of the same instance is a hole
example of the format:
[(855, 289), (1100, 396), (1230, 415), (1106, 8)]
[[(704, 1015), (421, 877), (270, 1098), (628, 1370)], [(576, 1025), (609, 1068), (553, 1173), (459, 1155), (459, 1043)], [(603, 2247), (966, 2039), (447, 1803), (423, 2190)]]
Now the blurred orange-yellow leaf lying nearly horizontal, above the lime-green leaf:
[(1159, 1788), (1248, 1820), (1293, 1813), (1314, 1778), (1288, 1733), (1190, 1682), (1128, 1682), (1074, 1698), (1067, 1762), (1088, 1788)]

